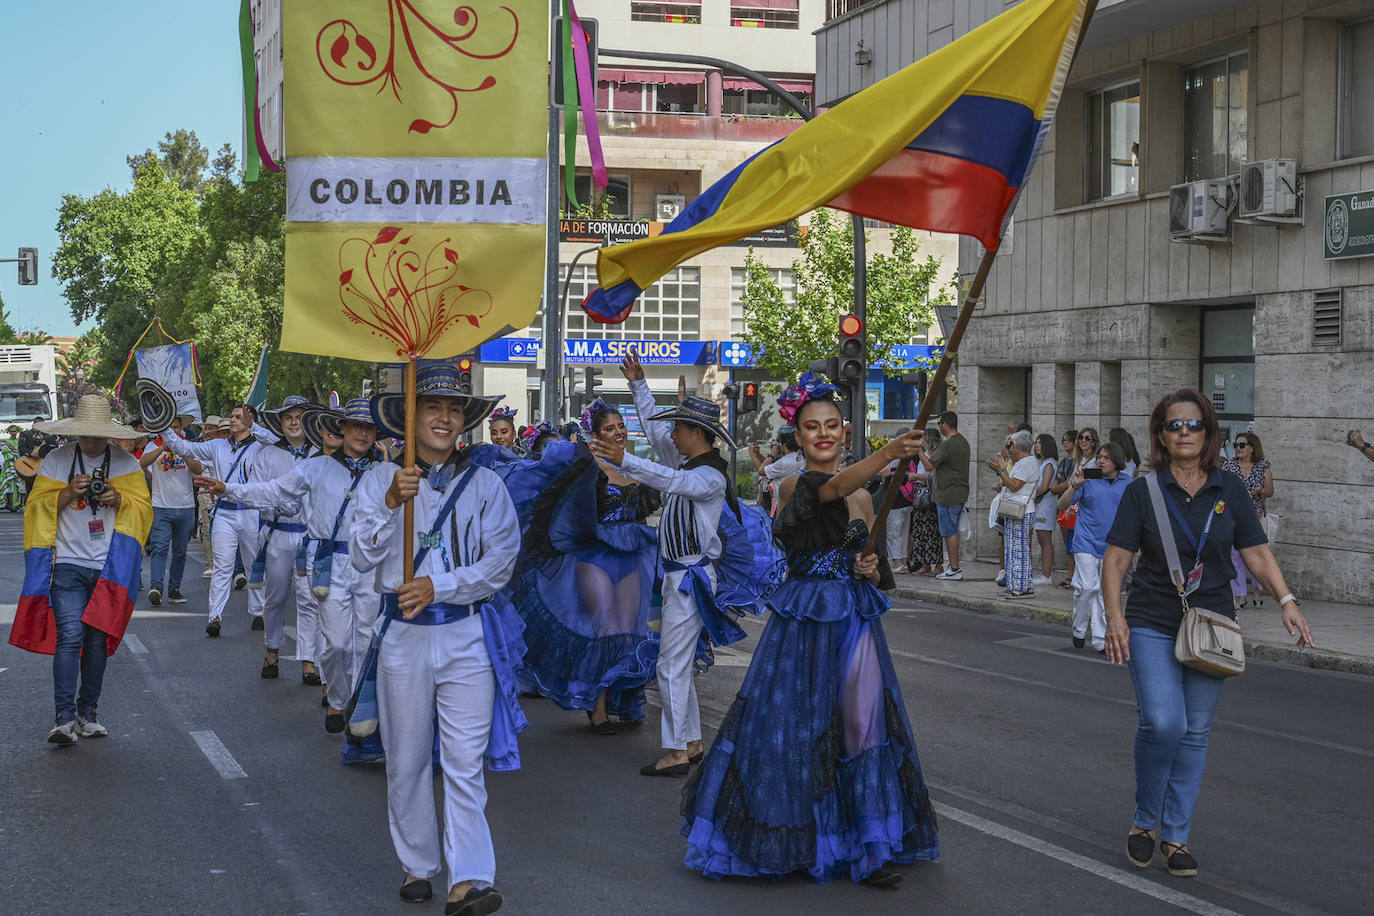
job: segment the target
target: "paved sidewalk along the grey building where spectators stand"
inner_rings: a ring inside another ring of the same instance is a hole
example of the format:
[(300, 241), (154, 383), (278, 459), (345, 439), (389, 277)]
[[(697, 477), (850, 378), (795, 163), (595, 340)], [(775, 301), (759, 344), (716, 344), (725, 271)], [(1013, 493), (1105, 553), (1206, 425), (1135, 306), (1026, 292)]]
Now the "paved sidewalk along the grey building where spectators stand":
[[(1033, 597), (1007, 599), (998, 595), (993, 584), (996, 574), (998, 566), (985, 562), (965, 563), (963, 580), (959, 581), (900, 571), (896, 573), (897, 588), (893, 595), (978, 614), (1058, 623), (1065, 629), (1072, 625), (1072, 589), (1050, 585), (1037, 588)], [(1054, 580), (1062, 581), (1063, 570), (1055, 570)], [(1303, 602), (1303, 614), (1312, 628), (1318, 648), (1297, 650), (1297, 640), (1283, 629), (1274, 599), (1265, 596), (1263, 607), (1242, 610), (1239, 619), (1245, 628), (1245, 654), (1271, 662), (1374, 676), (1374, 608), (1312, 600)], [(1069, 641), (1068, 633), (1063, 640)]]

